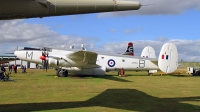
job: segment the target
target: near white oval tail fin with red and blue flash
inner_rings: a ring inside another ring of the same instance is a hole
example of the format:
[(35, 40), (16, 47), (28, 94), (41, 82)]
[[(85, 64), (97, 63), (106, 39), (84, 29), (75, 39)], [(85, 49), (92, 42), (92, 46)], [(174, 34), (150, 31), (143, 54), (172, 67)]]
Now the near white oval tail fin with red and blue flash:
[(165, 73), (172, 73), (178, 68), (178, 51), (174, 44), (166, 43), (163, 45), (158, 59), (158, 66)]

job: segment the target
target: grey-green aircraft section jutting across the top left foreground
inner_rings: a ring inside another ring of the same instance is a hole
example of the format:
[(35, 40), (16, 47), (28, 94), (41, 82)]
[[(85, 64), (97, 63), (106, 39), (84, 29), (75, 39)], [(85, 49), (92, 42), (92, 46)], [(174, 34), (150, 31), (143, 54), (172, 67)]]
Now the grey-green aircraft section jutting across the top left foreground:
[(0, 0), (0, 20), (138, 10), (136, 1), (121, 0)]

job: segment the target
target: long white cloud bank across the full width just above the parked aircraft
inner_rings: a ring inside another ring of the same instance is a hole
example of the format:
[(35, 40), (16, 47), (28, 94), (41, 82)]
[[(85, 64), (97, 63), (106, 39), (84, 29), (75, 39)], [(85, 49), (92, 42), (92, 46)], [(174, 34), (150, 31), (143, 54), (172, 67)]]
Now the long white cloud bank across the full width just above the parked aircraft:
[(133, 42), (136, 56), (140, 56), (142, 49), (146, 46), (152, 46), (158, 56), (160, 48), (166, 42), (174, 43), (179, 52), (179, 60), (200, 61), (200, 40), (169, 39), (160, 37), (155, 40), (137, 40), (123, 42), (108, 42), (97, 45), (98, 38), (79, 37), (76, 35), (60, 35), (49, 27), (40, 24), (28, 24), (23, 20), (0, 21), (0, 52), (13, 52), (17, 46), (65, 46), (74, 45), (76, 49), (81, 48), (84, 43), (87, 50), (124, 53), (128, 42)]

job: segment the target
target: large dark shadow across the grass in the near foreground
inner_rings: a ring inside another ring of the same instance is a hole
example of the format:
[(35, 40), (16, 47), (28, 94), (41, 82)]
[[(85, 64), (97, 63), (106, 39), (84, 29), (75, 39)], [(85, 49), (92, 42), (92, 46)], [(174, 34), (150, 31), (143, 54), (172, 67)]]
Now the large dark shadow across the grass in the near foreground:
[[(80, 107), (108, 107), (129, 111), (150, 112), (197, 112), (200, 106), (187, 104), (187, 101), (200, 101), (198, 97), (158, 98), (135, 89), (107, 89), (87, 101), (77, 102), (43, 102), (22, 104), (0, 104), (0, 110), (5, 111), (45, 111)], [(199, 104), (199, 103), (198, 103)], [(101, 111), (101, 110), (99, 110)]]

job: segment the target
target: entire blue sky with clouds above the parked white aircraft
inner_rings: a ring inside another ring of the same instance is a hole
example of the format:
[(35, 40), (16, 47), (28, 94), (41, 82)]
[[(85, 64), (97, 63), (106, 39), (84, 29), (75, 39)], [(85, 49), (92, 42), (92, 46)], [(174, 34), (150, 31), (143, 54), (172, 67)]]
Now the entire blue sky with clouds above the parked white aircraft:
[(162, 45), (171, 42), (179, 60), (200, 61), (199, 0), (135, 1), (144, 6), (135, 11), (1, 20), (0, 52), (14, 52), (17, 46), (79, 49), (83, 43), (87, 50), (123, 53), (132, 42), (136, 56), (146, 46), (158, 56)]

